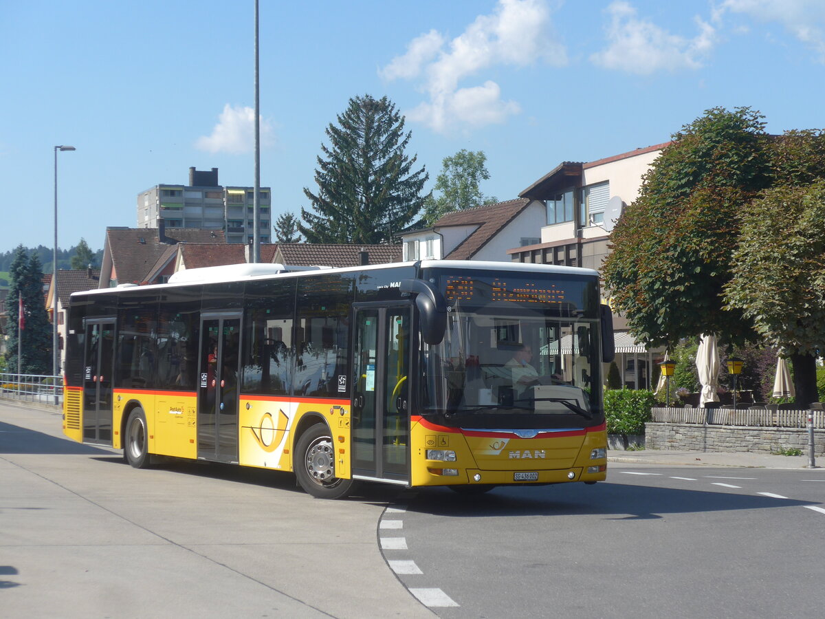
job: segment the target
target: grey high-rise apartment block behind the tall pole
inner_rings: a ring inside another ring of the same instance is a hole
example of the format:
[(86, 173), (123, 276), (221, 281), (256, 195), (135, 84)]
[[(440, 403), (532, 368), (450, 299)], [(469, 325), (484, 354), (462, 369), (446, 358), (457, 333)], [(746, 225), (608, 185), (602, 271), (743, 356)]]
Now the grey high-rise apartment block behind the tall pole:
[[(261, 243), (271, 239), (271, 189), (260, 190)], [(254, 237), (254, 187), (222, 187), (218, 168), (189, 168), (188, 185), (155, 185), (138, 194), (138, 228), (223, 230), (227, 243), (251, 243)]]

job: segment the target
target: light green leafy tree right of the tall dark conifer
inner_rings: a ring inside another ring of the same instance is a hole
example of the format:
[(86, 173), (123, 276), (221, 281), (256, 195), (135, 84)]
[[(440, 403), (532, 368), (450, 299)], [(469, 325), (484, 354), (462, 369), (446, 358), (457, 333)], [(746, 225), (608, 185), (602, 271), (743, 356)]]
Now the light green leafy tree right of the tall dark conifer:
[(452, 157), (445, 157), (443, 168), (436, 177), (434, 191), (439, 196), (428, 196), (424, 203), (423, 223), (435, 224), (443, 215), (454, 210), (471, 209), (497, 202), (493, 196), (485, 196), (479, 185), (488, 180), (490, 172), (485, 163), (487, 155), (483, 150), (461, 149)]

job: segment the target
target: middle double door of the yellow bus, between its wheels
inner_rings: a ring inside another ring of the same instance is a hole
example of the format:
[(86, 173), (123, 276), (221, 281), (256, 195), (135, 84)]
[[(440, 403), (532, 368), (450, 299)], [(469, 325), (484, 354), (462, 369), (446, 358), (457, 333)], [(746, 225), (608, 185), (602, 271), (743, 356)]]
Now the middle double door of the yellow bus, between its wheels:
[(238, 361), (241, 319), (237, 314), (200, 321), (198, 457), (238, 461)]

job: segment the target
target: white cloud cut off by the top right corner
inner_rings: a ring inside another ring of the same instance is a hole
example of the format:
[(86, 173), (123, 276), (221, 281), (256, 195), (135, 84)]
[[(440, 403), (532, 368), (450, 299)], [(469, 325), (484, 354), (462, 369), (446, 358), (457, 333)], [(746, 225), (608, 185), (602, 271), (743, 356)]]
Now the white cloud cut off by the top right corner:
[(776, 22), (808, 45), (825, 62), (825, 2), (823, 0), (724, 0), (714, 12), (747, 15), (757, 21)]

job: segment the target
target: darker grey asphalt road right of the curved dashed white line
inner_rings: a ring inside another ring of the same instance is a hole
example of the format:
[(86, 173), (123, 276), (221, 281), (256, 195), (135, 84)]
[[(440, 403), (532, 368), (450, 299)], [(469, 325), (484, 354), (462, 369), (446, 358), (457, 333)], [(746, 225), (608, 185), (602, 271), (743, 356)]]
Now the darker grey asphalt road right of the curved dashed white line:
[(407, 550), (384, 555), (441, 617), (823, 616), (821, 470), (611, 465), (595, 486), (407, 499), (382, 520)]

